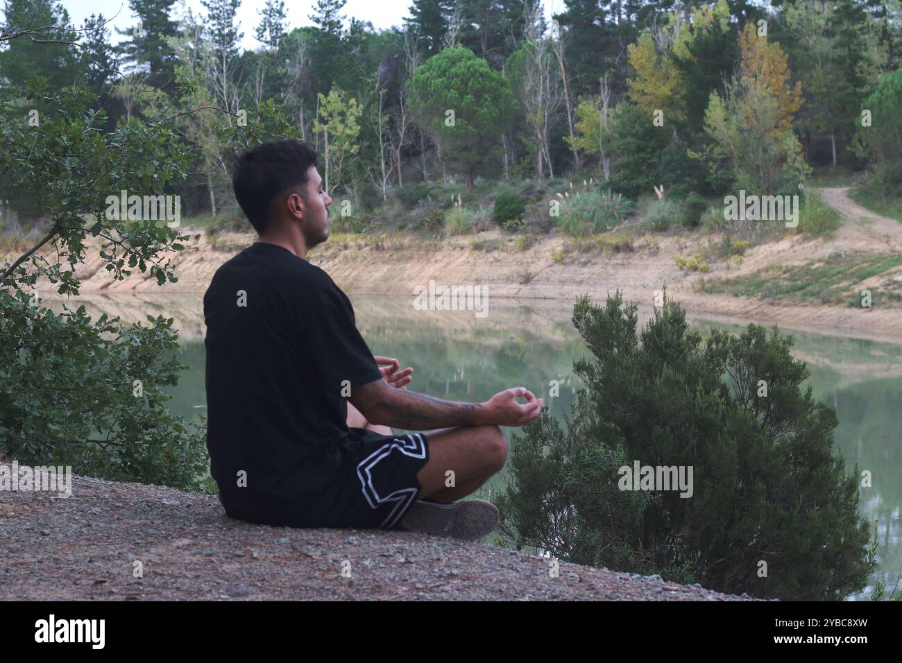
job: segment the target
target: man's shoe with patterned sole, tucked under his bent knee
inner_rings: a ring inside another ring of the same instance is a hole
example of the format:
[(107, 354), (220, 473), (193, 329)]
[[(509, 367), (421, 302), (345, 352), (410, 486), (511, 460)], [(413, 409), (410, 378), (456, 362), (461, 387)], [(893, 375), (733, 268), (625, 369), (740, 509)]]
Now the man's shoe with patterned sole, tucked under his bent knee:
[(498, 510), (491, 502), (425, 502), (418, 500), (400, 521), (400, 528), (423, 534), (478, 541), (498, 526)]

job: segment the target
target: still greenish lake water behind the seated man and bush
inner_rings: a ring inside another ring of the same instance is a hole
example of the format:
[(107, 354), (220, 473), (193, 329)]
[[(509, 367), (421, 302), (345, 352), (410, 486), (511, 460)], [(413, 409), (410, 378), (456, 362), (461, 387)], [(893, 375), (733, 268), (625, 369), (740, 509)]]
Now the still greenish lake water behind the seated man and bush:
[[(570, 320), (571, 302), (492, 300), (486, 318), (470, 311), (414, 310), (411, 298), (356, 296), (351, 298), (357, 326), (375, 355), (397, 357), (401, 367), (412, 366), (410, 389), (455, 401), (485, 401), (508, 387), (523, 386), (545, 398), (560, 418), (575, 401), (579, 384), (574, 360), (585, 351)], [(191, 368), (179, 385), (170, 387), (170, 410), (186, 419), (205, 411), (203, 302), (199, 296), (111, 296), (80, 298), (92, 317), (106, 312), (124, 321), (146, 315), (174, 317), (179, 329), (179, 358)], [(52, 306), (52, 305), (51, 305)], [(52, 306), (60, 310), (57, 306)], [(69, 302), (69, 308), (76, 308)], [(640, 325), (650, 315), (640, 308)], [(746, 323), (712, 322), (690, 318), (691, 327), (711, 327), (740, 333)], [(787, 330), (788, 331), (788, 330)], [(815, 398), (833, 405), (839, 427), (837, 446), (848, 471), (858, 464), (870, 470), (872, 487), (861, 488), (861, 516), (879, 519), (879, 566), (857, 599), (867, 598), (878, 579), (888, 589), (902, 569), (902, 345), (839, 336), (791, 332), (793, 354), (808, 364)], [(549, 398), (549, 383), (557, 380), (559, 396)], [(514, 430), (505, 429), (511, 439)], [(502, 489), (501, 479), (476, 496)]]

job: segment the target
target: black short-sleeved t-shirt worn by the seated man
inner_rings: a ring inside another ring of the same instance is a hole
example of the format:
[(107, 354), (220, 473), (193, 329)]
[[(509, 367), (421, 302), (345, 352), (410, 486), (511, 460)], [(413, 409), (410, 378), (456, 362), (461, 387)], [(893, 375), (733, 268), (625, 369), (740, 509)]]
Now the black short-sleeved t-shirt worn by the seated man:
[(382, 373), (345, 293), (278, 244), (255, 242), (219, 267), (204, 318), (219, 499), (236, 518), (288, 521), (346, 471), (345, 397)]

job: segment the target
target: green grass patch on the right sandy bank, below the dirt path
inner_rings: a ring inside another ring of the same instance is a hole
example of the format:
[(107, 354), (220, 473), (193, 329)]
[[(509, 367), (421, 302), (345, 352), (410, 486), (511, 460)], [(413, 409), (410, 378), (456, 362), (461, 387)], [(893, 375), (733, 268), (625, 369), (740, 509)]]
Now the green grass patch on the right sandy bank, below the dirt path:
[(902, 306), (902, 287), (888, 273), (902, 266), (902, 255), (853, 253), (824, 262), (769, 267), (732, 279), (705, 279), (696, 286), (701, 292), (728, 293), (733, 297), (814, 302), (861, 307), (860, 284), (885, 275), (877, 286), (868, 286), (873, 307)]

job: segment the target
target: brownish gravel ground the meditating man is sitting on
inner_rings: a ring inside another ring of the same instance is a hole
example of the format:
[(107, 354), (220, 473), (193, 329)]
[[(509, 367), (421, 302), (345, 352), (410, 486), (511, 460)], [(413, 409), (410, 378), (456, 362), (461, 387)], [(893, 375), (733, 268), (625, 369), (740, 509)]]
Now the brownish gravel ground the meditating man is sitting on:
[(73, 475), (54, 494), (0, 491), (0, 600), (752, 600), (575, 564), (552, 577), (482, 543), (253, 525), (165, 486)]

